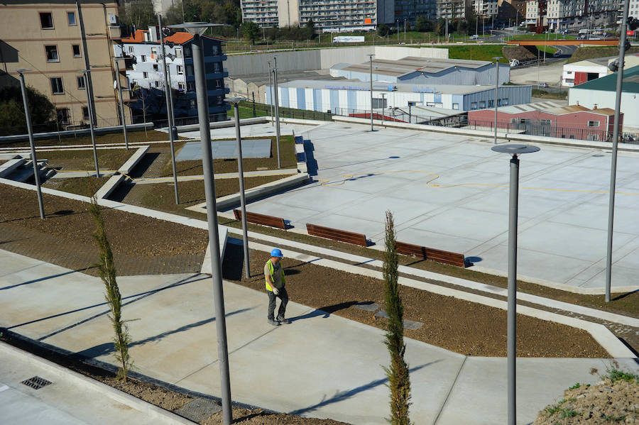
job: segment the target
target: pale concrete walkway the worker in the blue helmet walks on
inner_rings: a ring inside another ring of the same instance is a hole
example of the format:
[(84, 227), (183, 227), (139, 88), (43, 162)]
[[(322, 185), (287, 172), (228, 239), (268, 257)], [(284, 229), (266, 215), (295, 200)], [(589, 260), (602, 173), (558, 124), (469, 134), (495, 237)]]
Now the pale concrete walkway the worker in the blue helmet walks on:
[[(114, 363), (99, 279), (0, 250), (0, 326)], [(212, 285), (204, 275), (120, 277), (138, 372), (219, 395)], [(383, 331), (290, 302), (293, 324), (266, 323), (266, 296), (224, 283), (234, 400), (352, 424), (386, 424)], [(294, 301), (294, 300), (293, 300)], [(506, 358), (467, 358), (406, 339), (415, 424), (506, 422)], [(601, 359), (518, 360), (518, 424), (575, 382), (594, 383)], [(639, 370), (633, 360), (619, 360)], [(0, 381), (3, 378), (0, 377)]]

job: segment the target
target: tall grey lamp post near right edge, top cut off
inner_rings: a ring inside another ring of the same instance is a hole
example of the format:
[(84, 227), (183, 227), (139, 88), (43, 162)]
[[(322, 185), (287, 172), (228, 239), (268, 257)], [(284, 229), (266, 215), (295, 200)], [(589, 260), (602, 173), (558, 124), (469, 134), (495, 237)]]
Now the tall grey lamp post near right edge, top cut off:
[(608, 245), (606, 250), (606, 302), (610, 302), (610, 286), (612, 275), (612, 239), (615, 213), (615, 185), (617, 174), (617, 144), (619, 142), (619, 112), (621, 111), (621, 88), (623, 86), (623, 60), (626, 55), (626, 23), (628, 23), (628, 6), (623, 5), (623, 18), (621, 19), (621, 40), (619, 40), (619, 59), (617, 60), (617, 92), (615, 97), (615, 128), (613, 128), (613, 151), (610, 171), (610, 201), (608, 202)]

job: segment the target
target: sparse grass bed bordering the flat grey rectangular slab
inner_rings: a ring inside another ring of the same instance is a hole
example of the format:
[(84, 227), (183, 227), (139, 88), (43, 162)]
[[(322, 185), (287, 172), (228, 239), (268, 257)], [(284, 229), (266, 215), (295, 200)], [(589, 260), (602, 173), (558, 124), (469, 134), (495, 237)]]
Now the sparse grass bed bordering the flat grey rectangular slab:
[[(248, 139), (267, 138), (264, 136), (248, 137)], [(244, 171), (257, 171), (258, 168), (266, 170), (275, 170), (278, 167), (278, 154), (276, 150), (275, 136), (271, 136), (271, 158), (244, 158)], [(200, 143), (200, 142), (197, 142)], [(176, 150), (177, 155), (178, 150)], [(280, 163), (282, 168), (294, 168), (297, 166), (297, 157), (295, 156), (295, 142), (293, 136), (280, 137), (280, 155), (282, 156)], [(202, 160), (178, 161), (175, 162), (178, 175), (202, 175)], [(215, 173), (237, 172), (237, 160), (213, 160), (213, 170)], [(162, 177), (173, 175), (171, 162), (165, 165)], [(217, 183), (216, 183), (217, 184)]]

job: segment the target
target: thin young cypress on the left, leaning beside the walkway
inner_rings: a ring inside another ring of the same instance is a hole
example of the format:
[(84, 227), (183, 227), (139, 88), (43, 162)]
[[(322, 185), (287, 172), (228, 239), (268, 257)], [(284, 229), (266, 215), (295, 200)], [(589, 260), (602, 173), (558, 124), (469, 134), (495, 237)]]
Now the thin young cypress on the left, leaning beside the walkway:
[(129, 343), (131, 343), (131, 337), (129, 331), (126, 329), (126, 324), (122, 320), (122, 296), (120, 295), (120, 289), (118, 288), (118, 282), (116, 282), (116, 270), (113, 263), (113, 253), (111, 252), (111, 245), (107, 240), (107, 233), (104, 231), (104, 219), (102, 219), (102, 211), (97, 204), (95, 196), (92, 198), (91, 206), (89, 206), (89, 212), (91, 213), (95, 224), (96, 232), (93, 237), (98, 245), (99, 250), (99, 263), (96, 267), (98, 269), (98, 275), (104, 286), (107, 288), (104, 297), (109, 303), (111, 314), (111, 324), (115, 331), (114, 346), (115, 357), (119, 363), (118, 377), (126, 380), (129, 371), (131, 370), (131, 358), (129, 358)]

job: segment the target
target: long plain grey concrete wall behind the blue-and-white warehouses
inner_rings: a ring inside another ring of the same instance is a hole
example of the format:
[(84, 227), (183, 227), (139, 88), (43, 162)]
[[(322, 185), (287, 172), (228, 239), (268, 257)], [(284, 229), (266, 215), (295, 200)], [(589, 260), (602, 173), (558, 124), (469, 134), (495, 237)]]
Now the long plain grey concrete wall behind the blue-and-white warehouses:
[(387, 60), (398, 60), (406, 56), (448, 59), (448, 49), (368, 45), (354, 48), (327, 48), (229, 55), (228, 59), (226, 59), (226, 67), (229, 70), (230, 77), (247, 74), (268, 74), (267, 62), (273, 62), (273, 55), (276, 55), (278, 57), (278, 69), (280, 71), (320, 70), (328, 69), (340, 62), (366, 62), (368, 60), (368, 56), (366, 55), (371, 53), (378, 59)]

